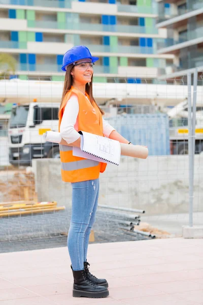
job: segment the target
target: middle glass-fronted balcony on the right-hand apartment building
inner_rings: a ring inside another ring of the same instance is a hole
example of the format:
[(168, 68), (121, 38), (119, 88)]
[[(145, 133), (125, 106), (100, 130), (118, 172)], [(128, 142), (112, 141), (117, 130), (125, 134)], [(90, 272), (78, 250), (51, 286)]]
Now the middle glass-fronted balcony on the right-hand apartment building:
[[(184, 35), (179, 35), (179, 39), (174, 39), (174, 38), (159, 39), (157, 42), (157, 50), (162, 52), (162, 49), (172, 47), (175, 45), (177, 45), (178, 47), (178, 44), (186, 43), (196, 38), (202, 38), (202, 33), (203, 33), (202, 31), (203, 31), (203, 26), (193, 29), (193, 31), (188, 31)], [(185, 47), (185, 46), (183, 45), (181, 47)], [(164, 50), (164, 52), (167, 52), (167, 50)]]

